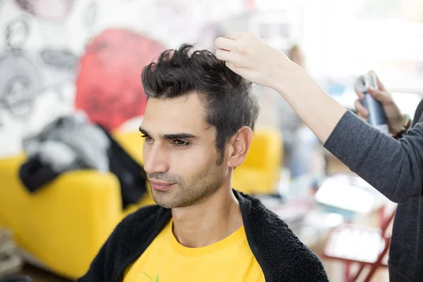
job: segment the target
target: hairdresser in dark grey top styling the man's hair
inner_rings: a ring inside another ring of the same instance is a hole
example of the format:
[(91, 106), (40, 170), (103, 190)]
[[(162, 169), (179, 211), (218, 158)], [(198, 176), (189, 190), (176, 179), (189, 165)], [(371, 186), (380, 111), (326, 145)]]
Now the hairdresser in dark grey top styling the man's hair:
[[(347, 111), (302, 68), (255, 35), (216, 39), (216, 56), (243, 78), (271, 87), (286, 99), (324, 147), (393, 202), (398, 202), (389, 250), (390, 281), (423, 279), (423, 99), (405, 118), (379, 81), (369, 93), (384, 106), (388, 136)], [(364, 94), (357, 92), (360, 99)], [(361, 117), (368, 114), (359, 104)]]

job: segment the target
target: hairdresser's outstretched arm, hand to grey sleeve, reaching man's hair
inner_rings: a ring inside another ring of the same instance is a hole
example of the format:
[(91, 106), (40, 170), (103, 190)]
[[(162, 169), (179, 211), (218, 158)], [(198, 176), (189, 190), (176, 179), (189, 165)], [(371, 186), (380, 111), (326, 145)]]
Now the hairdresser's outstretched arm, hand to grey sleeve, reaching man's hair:
[(283, 53), (255, 35), (216, 39), (216, 56), (247, 80), (286, 99), (338, 159), (394, 202), (422, 195), (423, 125), (397, 141), (372, 128), (329, 94)]

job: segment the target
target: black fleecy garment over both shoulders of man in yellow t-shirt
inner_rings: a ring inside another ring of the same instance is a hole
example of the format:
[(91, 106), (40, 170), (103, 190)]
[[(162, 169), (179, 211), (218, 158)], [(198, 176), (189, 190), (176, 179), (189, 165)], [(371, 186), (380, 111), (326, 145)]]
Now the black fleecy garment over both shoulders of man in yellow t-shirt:
[[(245, 233), (266, 281), (329, 281), (323, 265), (285, 222), (257, 199), (233, 191), (240, 202)], [(119, 282), (171, 219), (171, 210), (142, 207), (127, 216), (104, 243), (87, 274), (78, 282)]]

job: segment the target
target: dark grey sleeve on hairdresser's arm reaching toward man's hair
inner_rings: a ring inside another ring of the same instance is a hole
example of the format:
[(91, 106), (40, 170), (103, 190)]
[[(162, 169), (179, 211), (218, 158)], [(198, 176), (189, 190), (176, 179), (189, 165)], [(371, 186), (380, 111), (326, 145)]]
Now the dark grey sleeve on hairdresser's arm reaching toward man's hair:
[(422, 195), (422, 123), (395, 140), (347, 111), (324, 147), (393, 202)]

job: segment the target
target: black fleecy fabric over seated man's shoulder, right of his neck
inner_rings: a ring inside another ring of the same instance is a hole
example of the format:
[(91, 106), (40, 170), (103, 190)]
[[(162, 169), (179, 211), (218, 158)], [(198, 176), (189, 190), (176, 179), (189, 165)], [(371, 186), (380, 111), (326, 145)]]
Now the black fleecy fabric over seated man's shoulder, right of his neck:
[(247, 209), (247, 238), (250, 236), (257, 260), (266, 264), (270, 275), (288, 278), (288, 281), (290, 278), (327, 281), (319, 258), (300, 241), (285, 221), (264, 207), (258, 199), (241, 195)]

